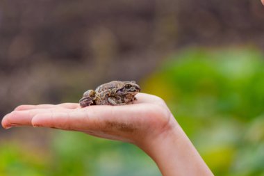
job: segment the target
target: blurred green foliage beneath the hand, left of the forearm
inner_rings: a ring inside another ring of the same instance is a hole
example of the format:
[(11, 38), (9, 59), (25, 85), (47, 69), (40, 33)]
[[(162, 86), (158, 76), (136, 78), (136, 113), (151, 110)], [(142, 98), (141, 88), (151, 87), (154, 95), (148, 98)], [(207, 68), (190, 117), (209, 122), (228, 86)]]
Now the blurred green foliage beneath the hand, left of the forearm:
[(138, 147), (87, 134), (57, 131), (47, 152), (21, 146), (0, 145), (1, 176), (160, 176), (154, 161)]

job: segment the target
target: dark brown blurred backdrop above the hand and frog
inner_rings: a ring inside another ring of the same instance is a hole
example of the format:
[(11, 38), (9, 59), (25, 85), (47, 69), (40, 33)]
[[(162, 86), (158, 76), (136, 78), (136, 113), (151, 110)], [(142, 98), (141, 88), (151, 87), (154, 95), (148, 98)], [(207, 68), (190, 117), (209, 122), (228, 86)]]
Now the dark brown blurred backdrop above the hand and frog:
[(251, 0), (1, 0), (0, 115), (18, 104), (77, 102), (113, 79), (138, 81), (186, 46), (263, 48), (263, 14)]

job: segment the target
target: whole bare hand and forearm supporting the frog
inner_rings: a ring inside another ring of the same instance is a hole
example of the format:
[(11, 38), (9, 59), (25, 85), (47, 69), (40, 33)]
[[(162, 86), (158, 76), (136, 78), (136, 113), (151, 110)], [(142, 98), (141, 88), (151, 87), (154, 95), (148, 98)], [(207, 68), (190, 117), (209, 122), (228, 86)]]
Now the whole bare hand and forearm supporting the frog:
[(126, 106), (21, 105), (3, 118), (2, 126), (82, 131), (137, 145), (154, 159), (165, 176), (213, 175), (163, 99), (145, 93), (136, 97), (134, 104)]

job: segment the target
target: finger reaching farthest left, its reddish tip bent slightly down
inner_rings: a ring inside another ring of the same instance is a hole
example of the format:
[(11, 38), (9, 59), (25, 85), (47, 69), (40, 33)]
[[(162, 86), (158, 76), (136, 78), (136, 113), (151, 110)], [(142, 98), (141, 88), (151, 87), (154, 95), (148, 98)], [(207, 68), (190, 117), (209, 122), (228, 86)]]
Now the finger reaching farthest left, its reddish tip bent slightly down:
[(17, 127), (17, 126), (31, 126), (33, 116), (40, 113), (51, 113), (53, 111), (65, 112), (67, 109), (31, 109), (25, 111), (13, 111), (3, 117), (3, 128)]

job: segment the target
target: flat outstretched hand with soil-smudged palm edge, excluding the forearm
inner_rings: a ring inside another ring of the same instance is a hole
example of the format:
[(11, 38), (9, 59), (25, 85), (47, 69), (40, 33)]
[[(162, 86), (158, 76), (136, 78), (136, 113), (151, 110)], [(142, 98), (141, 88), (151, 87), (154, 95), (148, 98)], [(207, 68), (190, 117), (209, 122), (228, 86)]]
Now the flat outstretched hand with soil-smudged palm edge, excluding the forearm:
[(174, 126), (165, 102), (159, 97), (138, 93), (135, 104), (125, 106), (21, 105), (2, 120), (4, 128), (51, 127), (83, 131), (92, 136), (143, 144)]

